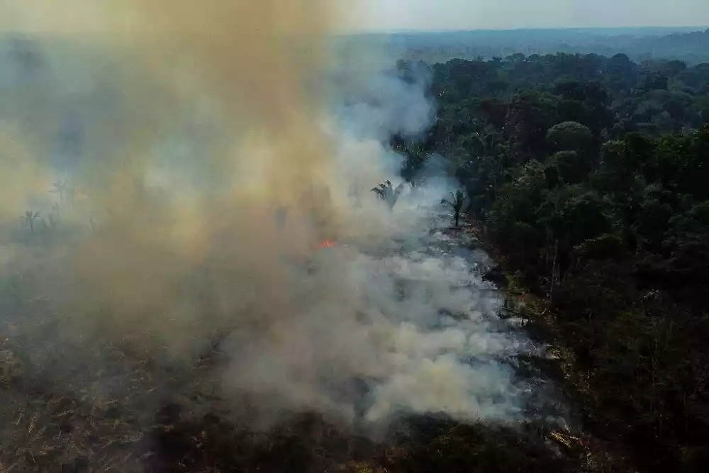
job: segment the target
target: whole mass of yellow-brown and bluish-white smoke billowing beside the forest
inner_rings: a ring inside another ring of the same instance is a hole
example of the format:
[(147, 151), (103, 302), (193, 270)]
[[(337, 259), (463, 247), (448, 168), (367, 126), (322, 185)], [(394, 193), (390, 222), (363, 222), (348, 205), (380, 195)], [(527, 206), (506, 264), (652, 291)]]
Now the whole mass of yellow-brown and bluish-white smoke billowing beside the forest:
[(518, 416), (519, 343), (429, 232), (447, 182), (393, 211), (369, 191), (401, 166), (386, 140), (430, 123), (427, 79), (336, 55), (329, 2), (0, 13), (28, 38), (4, 43), (0, 218), (4, 322), (52, 327), (30, 365), (77, 389), (90, 350), (187, 367), (218, 338), (220, 393), (264, 416)]

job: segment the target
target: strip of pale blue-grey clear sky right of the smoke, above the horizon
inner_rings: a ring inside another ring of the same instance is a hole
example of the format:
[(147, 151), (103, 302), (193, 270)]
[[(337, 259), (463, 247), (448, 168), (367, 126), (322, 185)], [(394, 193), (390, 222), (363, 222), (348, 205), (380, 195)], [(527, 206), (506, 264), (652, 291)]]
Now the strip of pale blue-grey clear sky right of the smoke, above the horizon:
[(709, 26), (709, 0), (355, 0), (365, 29)]

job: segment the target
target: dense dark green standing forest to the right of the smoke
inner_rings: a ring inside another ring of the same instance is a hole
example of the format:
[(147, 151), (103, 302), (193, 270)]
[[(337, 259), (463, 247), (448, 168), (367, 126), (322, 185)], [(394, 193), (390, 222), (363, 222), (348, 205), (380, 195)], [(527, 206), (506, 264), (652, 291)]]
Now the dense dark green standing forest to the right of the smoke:
[(530, 330), (566, 355), (584, 424), (644, 471), (709, 460), (709, 64), (510, 55), (432, 66), (440, 108), (398, 136), (441, 155)]

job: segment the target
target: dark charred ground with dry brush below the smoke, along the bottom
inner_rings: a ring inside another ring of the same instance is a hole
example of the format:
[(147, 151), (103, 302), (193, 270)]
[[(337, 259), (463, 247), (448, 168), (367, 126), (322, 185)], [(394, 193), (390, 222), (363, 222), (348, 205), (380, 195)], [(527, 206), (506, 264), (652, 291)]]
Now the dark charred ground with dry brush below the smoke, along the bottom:
[[(247, 421), (247, 399), (234, 408), (233, 400), (200, 392), (147, 360), (113, 355), (106, 369), (132, 370), (132, 385), (108, 402), (82, 390), (58, 394), (67, 386), (33, 379), (15, 361), (1, 387), (3, 471), (566, 472), (588, 464), (584, 447), (554, 443), (544, 423), (491, 427), (405, 416), (372, 436), (300, 413), (255, 429)], [(215, 357), (192, 367), (191, 376), (208, 376)], [(172, 379), (160, 396), (150, 389), (156, 376)], [(104, 374), (98, 377), (104, 382)]]

